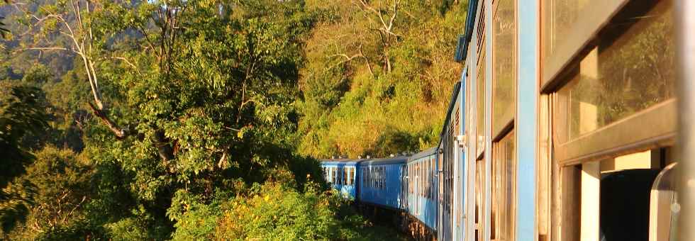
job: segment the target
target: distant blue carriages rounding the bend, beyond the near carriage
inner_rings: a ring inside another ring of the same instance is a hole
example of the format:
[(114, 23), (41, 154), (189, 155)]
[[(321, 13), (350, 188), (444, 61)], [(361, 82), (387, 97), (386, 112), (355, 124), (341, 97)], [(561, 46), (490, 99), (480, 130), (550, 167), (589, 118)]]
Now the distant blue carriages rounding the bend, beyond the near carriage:
[(436, 148), (410, 157), (323, 159), (326, 180), (345, 198), (407, 214), (401, 220), (421, 235), (437, 227)]

